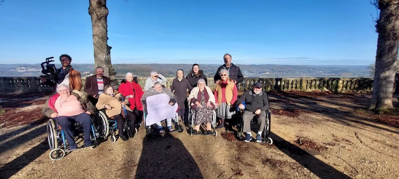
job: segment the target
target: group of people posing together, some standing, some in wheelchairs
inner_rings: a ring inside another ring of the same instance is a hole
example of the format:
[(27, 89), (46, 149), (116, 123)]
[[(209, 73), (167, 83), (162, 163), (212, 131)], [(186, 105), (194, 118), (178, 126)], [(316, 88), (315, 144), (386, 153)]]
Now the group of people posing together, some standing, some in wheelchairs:
[[(110, 84), (110, 79), (103, 76), (104, 70), (101, 66), (95, 68), (95, 75), (86, 78), (84, 92), (81, 91), (81, 75), (72, 68), (71, 56), (63, 54), (59, 57), (62, 67), (58, 69), (58, 76), (54, 80), (48, 81), (42, 78), (42, 83), (53, 86), (55, 93), (43, 106), (43, 115), (57, 118), (61, 128), (65, 132), (70, 150), (77, 149), (73, 141), (71, 127), (78, 121), (83, 125), (85, 147), (91, 146), (90, 125), (91, 117), (96, 110), (105, 109), (106, 115), (117, 121), (119, 136), (122, 140), (128, 140), (129, 136), (123, 132), (123, 119), (127, 116), (130, 120), (130, 127), (139, 127), (143, 115), (146, 98), (152, 95), (164, 93), (168, 95), (169, 105), (178, 105), (179, 121), (184, 121), (184, 116), (188, 108), (192, 109), (194, 119), (193, 134), (202, 134), (200, 125), (206, 125), (205, 135), (211, 135), (211, 121), (213, 111), (216, 110), (217, 128), (225, 127), (225, 120), (232, 119), (236, 112), (236, 105), (243, 110), (244, 128), (246, 132), (245, 142), (252, 139), (251, 120), (258, 121), (258, 133), (256, 140), (261, 142), (261, 132), (266, 120), (265, 111), (269, 109), (269, 101), (262, 84), (257, 82), (253, 85), (253, 90), (248, 90), (237, 99), (238, 84), (243, 82), (244, 77), (238, 66), (231, 63), (231, 55), (223, 56), (224, 64), (221, 65), (213, 77), (216, 84), (215, 91), (207, 86), (207, 77), (198, 64), (194, 64), (189, 74), (184, 77), (184, 71), (178, 69), (176, 78), (170, 88), (166, 88), (163, 83), (166, 78), (156, 71), (150, 73), (146, 80), (144, 91), (134, 80), (132, 73), (126, 73), (126, 80), (122, 80), (118, 89), (114, 89)], [(188, 92), (188, 93), (187, 93)], [(245, 102), (245, 107), (243, 105)], [(126, 109), (124, 113), (123, 107)], [(172, 119), (166, 119), (166, 129), (173, 131)], [(232, 121), (226, 127), (231, 129)], [(160, 133), (164, 133), (161, 123), (155, 124)]]

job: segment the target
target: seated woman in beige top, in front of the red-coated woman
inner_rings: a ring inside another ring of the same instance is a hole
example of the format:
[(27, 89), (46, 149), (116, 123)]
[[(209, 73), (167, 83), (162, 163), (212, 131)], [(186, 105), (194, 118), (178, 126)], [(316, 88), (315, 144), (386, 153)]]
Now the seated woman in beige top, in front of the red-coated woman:
[[(135, 121), (138, 118), (136, 113), (127, 106), (128, 104), (128, 98), (124, 98), (121, 93), (115, 93), (114, 88), (110, 85), (104, 87), (104, 92), (99, 95), (96, 104), (97, 109), (105, 109), (107, 116), (111, 119), (115, 119), (117, 128), (119, 129), (119, 137), (123, 141), (134, 136)], [(124, 119), (128, 119), (126, 127), (124, 127)], [(128, 135), (126, 135), (126, 133)]]

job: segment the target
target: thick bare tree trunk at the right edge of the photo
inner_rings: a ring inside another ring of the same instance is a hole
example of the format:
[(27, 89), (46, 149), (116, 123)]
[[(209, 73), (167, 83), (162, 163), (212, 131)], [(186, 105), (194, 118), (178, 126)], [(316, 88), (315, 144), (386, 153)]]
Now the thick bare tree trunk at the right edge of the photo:
[(369, 109), (393, 109), (392, 93), (399, 48), (399, 0), (377, 0), (379, 19), (373, 97)]

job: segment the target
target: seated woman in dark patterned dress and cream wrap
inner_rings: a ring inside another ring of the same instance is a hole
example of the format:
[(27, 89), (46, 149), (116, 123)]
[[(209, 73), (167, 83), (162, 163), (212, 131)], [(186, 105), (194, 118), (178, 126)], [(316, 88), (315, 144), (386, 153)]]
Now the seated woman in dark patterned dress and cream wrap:
[(201, 135), (202, 132), (199, 130), (199, 126), (201, 123), (205, 123), (205, 135), (213, 135), (214, 133), (212, 132), (211, 123), (213, 124), (213, 127), (215, 127), (215, 96), (213, 95), (212, 90), (205, 86), (205, 80), (198, 80), (197, 87), (193, 88), (188, 96), (188, 101), (190, 107), (190, 125), (193, 123), (195, 125), (194, 130), (192, 130), (192, 126), (190, 127), (190, 133)]

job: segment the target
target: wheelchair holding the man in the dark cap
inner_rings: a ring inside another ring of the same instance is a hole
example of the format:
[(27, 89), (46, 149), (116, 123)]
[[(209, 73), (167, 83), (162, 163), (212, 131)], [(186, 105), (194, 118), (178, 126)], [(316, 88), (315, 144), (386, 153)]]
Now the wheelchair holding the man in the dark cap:
[[(243, 101), (242, 103), (244, 105), (244, 109), (245, 109), (245, 101)], [(243, 119), (243, 110), (237, 107), (237, 116), (238, 116), (238, 125), (237, 125), (237, 137), (239, 139), (242, 139), (241, 134), (243, 133), (243, 127), (244, 127), (244, 119)], [(261, 134), (262, 136), (262, 143), (267, 143), (267, 144), (273, 144), (273, 139), (270, 137), (270, 121), (271, 121), (271, 117), (270, 117), (270, 112), (269, 110), (265, 111), (266, 112), (266, 121), (265, 121), (265, 126), (263, 128), (263, 132)], [(251, 126), (253, 124), (253, 119), (251, 120)], [(252, 128), (251, 128), (252, 129)]]

